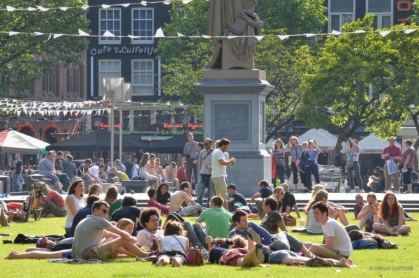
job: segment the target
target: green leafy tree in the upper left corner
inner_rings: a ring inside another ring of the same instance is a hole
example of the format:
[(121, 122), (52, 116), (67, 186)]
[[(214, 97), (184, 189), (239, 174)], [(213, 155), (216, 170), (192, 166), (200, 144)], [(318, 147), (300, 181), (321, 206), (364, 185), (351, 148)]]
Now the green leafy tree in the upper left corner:
[[(0, 8), (80, 7), (87, 0), (9, 0), (0, 1)], [(71, 8), (66, 11), (53, 9), (0, 11), (0, 30), (43, 34), (78, 34), (78, 29), (87, 30), (86, 11)], [(75, 36), (34, 36), (32, 34), (0, 34), (0, 91), (11, 87), (17, 90), (30, 89), (34, 80), (50, 73), (55, 66), (69, 63), (80, 64), (87, 41)]]

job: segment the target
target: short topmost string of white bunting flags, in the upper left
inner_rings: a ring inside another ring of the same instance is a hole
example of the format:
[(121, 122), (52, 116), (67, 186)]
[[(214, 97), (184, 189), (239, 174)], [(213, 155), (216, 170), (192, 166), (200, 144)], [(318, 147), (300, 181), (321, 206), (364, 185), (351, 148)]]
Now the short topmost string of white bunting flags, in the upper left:
[[(122, 6), (124, 8), (128, 8), (129, 6), (148, 6), (148, 5), (154, 5), (154, 4), (159, 4), (159, 3), (163, 3), (165, 5), (170, 5), (173, 2), (182, 2), (185, 5), (187, 3), (190, 3), (193, 0), (163, 0), (163, 1), (139, 1), (136, 3), (115, 3), (115, 4), (101, 4), (101, 5), (82, 5), (82, 6), (62, 6), (62, 7), (44, 7), (44, 6), (36, 6), (34, 7), (28, 7), (28, 8), (15, 8), (13, 6), (6, 6), (6, 8), (0, 8), (0, 11), (7, 11), (7, 12), (15, 12), (15, 11), (19, 11), (19, 10), (27, 10), (29, 12), (36, 12), (36, 11), (41, 11), (41, 12), (47, 12), (48, 10), (62, 10), (62, 11), (66, 11), (68, 9), (74, 9), (74, 8), (82, 8), (83, 10), (87, 10), (88, 8), (112, 8), (112, 7), (117, 7), (117, 6)], [(208, 0), (207, 0), (208, 1)]]

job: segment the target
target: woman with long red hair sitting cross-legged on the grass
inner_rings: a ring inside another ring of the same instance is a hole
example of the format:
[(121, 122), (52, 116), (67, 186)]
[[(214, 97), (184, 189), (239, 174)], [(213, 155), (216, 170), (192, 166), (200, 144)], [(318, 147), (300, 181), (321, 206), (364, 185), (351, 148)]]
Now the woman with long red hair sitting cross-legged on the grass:
[(407, 235), (411, 227), (404, 224), (404, 210), (395, 193), (387, 191), (374, 217), (372, 228), (376, 233), (389, 235)]

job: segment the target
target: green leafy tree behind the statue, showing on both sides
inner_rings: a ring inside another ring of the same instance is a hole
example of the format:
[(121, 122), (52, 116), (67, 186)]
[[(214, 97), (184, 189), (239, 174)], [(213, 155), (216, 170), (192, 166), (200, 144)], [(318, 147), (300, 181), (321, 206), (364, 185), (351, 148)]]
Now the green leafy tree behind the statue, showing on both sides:
[[(256, 13), (265, 23), (265, 35), (321, 31), (325, 24), (324, 11), (323, 0), (264, 0), (256, 7)], [(170, 23), (164, 31), (166, 36), (206, 34), (207, 20), (208, 1), (195, 0), (189, 5), (173, 3)], [(277, 37), (265, 37), (257, 44), (255, 67), (267, 71), (267, 81), (275, 87), (266, 98), (267, 130), (270, 131), (266, 140), (295, 119), (295, 108), (300, 103), (301, 69), (297, 64), (304, 59), (304, 55), (299, 56), (297, 52), (302, 45), (312, 42), (312, 38), (280, 41)], [(203, 38), (159, 41), (162, 69), (166, 74), (162, 78), (163, 92), (182, 96), (183, 103), (202, 103), (203, 96), (193, 85), (202, 79), (204, 66), (213, 51), (212, 42)], [(304, 47), (300, 54), (307, 52)]]

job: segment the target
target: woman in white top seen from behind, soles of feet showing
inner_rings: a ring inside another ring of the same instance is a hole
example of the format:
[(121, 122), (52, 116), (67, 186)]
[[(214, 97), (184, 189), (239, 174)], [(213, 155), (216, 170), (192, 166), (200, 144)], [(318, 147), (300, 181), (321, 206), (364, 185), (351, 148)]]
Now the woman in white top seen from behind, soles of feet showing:
[(170, 263), (174, 267), (180, 267), (186, 263), (189, 240), (184, 235), (182, 224), (172, 220), (166, 222), (164, 237), (161, 239), (161, 252), (155, 260), (157, 267)]

